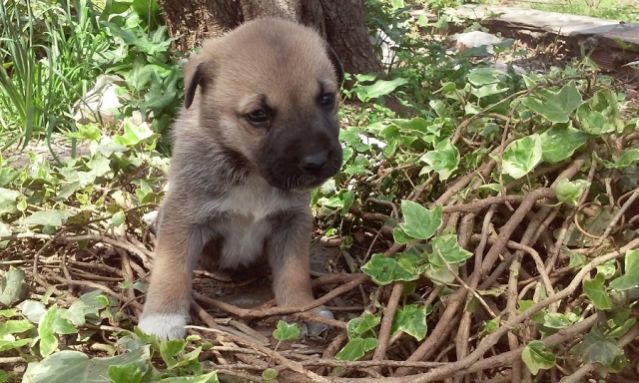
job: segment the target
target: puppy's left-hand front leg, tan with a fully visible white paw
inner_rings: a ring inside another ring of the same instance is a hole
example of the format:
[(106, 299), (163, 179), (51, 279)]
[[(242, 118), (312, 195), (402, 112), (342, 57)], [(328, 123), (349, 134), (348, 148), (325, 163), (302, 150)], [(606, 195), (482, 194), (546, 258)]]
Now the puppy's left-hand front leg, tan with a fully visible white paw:
[(159, 223), (151, 281), (139, 323), (142, 331), (161, 339), (186, 335), (191, 275), (206, 239), (202, 228), (183, 222), (165, 215)]

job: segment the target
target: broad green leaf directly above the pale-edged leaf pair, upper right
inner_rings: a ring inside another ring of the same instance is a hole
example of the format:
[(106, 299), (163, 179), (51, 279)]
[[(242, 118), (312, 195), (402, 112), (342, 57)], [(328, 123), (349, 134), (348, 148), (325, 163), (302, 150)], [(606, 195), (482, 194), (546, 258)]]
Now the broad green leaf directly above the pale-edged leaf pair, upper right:
[(559, 92), (542, 89), (537, 94), (524, 98), (522, 104), (551, 122), (566, 123), (582, 102), (579, 90), (571, 81)]

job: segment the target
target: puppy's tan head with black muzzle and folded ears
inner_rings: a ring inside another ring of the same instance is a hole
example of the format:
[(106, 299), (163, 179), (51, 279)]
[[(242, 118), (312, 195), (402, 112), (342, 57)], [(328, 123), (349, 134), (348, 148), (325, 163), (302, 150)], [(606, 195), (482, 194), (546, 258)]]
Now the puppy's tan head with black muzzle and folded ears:
[(312, 29), (262, 18), (207, 41), (187, 63), (187, 109), (205, 136), (280, 189), (316, 187), (342, 163), (342, 66)]

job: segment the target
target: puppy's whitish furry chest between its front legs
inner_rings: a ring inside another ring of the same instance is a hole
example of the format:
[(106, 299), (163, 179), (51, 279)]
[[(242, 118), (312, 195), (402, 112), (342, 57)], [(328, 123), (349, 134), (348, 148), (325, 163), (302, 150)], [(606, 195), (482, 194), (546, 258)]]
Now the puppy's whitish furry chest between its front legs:
[(222, 268), (248, 266), (264, 250), (272, 234), (270, 217), (295, 206), (276, 189), (259, 184), (232, 188), (226, 197), (211, 207), (223, 218), (213, 223), (213, 230), (223, 238), (220, 257)]

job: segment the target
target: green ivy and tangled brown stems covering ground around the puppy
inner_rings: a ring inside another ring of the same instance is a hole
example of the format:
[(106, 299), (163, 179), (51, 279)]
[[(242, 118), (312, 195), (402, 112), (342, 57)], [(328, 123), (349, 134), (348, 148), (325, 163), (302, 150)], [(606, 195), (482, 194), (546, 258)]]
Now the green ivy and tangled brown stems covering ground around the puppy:
[[(114, 126), (69, 129), (86, 155), (0, 169), (0, 381), (637, 379), (637, 110), (587, 59), (499, 69), (507, 44), (456, 52), (454, 13), (403, 1), (369, 2), (395, 61), (350, 76), (343, 170), (313, 198), (316, 238), (340, 254), (313, 306), (336, 319), (196, 293), (186, 340), (141, 333), (143, 218), (168, 166), (157, 119), (181, 95), (168, 40), (131, 4), (103, 25), (137, 102)], [(303, 339), (300, 319), (330, 330)]]

